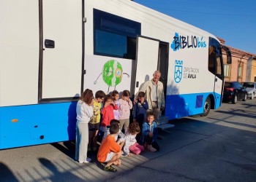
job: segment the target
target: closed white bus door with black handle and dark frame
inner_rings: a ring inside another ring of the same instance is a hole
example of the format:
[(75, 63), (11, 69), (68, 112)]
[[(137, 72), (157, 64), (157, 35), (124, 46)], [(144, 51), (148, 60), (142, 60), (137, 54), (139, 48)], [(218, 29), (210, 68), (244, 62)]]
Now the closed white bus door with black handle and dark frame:
[(39, 0), (39, 102), (80, 95), (82, 1)]

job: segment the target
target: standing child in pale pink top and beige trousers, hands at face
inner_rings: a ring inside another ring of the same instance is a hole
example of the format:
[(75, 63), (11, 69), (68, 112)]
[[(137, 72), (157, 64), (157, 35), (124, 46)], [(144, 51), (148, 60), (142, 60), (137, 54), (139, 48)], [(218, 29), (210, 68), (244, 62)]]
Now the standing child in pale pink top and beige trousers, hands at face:
[(132, 109), (132, 101), (129, 99), (130, 92), (128, 90), (124, 90), (122, 93), (121, 99), (119, 99), (119, 121), (120, 121), (120, 129), (122, 130), (124, 127), (124, 131), (127, 131), (129, 127), (129, 114), (130, 109)]

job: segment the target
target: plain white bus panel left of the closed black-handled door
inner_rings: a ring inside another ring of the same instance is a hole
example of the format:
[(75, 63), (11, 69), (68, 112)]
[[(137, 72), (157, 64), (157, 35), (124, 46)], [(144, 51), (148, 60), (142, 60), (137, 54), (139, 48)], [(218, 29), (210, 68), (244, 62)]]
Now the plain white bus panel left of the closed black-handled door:
[(0, 106), (38, 100), (39, 4), (0, 1)]

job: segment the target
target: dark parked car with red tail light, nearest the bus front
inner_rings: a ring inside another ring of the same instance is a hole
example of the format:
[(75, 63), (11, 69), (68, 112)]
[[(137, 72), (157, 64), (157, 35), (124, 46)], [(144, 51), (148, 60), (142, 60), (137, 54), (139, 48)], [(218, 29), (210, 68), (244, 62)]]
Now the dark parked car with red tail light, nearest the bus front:
[(223, 90), (223, 100), (237, 103), (238, 100), (246, 100), (247, 91), (239, 82), (225, 82)]

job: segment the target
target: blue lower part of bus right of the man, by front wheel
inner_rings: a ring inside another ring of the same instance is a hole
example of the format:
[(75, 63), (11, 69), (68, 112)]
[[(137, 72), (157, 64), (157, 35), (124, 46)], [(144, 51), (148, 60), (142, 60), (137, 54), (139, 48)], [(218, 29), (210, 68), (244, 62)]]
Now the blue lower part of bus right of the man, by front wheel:
[(167, 95), (165, 98), (165, 116), (177, 119), (203, 113), (203, 106), (208, 95), (214, 97), (215, 108), (219, 108), (221, 95), (214, 92), (193, 93), (184, 95)]

